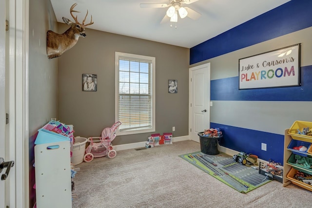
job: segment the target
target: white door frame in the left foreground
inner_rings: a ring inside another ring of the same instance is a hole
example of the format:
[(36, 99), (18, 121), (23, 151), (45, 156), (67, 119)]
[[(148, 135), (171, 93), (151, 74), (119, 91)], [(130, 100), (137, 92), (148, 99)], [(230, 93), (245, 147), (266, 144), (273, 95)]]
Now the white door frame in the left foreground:
[[(29, 208), (29, 0), (9, 1), (10, 207)], [(11, 176), (11, 177), (10, 177)], [(14, 176), (14, 177), (12, 177)], [(14, 185), (14, 186), (13, 186)]]

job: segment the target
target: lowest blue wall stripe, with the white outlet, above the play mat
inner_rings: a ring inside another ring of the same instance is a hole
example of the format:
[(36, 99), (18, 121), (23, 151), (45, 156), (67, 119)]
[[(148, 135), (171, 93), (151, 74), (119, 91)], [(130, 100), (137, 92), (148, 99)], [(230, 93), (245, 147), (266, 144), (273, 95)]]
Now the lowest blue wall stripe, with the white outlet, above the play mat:
[[(223, 134), (223, 138), (220, 140), (221, 146), (248, 154), (252, 153), (263, 160), (273, 160), (283, 164), (284, 135), (217, 123), (210, 123), (210, 126), (221, 129)], [(267, 144), (267, 151), (261, 150), (261, 143)]]

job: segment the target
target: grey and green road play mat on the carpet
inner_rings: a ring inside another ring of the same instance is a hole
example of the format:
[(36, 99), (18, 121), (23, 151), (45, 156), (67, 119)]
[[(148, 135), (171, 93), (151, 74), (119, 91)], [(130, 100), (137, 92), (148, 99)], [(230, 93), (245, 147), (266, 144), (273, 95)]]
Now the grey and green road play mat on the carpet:
[(179, 157), (242, 193), (247, 193), (271, 181), (259, 174), (259, 170), (236, 163), (225, 153), (209, 155), (196, 151)]

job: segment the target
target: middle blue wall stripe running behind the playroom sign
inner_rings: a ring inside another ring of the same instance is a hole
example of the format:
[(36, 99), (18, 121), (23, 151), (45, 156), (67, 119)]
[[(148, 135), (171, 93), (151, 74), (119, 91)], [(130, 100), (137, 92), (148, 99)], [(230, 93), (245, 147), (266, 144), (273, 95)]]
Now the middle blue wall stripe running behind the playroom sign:
[[(237, 69), (238, 70), (238, 69)], [(301, 86), (238, 90), (238, 76), (211, 80), (211, 100), (312, 101), (312, 66), (301, 67)]]

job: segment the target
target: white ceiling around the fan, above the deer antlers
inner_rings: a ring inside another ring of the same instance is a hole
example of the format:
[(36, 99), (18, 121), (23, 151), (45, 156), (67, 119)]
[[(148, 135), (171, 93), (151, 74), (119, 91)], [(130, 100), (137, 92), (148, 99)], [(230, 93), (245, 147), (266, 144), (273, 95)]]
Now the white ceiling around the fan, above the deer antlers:
[(198, 0), (181, 4), (197, 11), (201, 17), (197, 20), (178, 18), (177, 28), (175, 24), (170, 27), (169, 18), (160, 24), (168, 7), (140, 8), (140, 3), (169, 4), (170, 0), (51, 0), (51, 3), (59, 22), (63, 22), (62, 17), (73, 21), (69, 11), (77, 2), (75, 10), (80, 13), (75, 14), (80, 23), (87, 10), (85, 24), (90, 22), (91, 15), (93, 17), (94, 24), (87, 28), (192, 48), (288, 1)]

